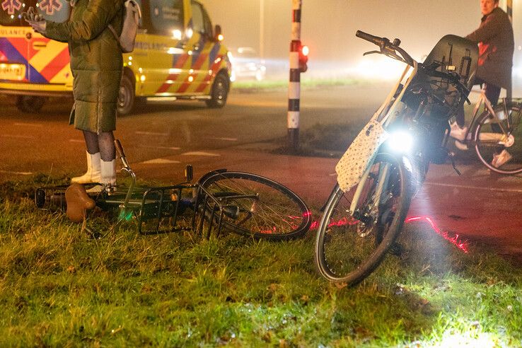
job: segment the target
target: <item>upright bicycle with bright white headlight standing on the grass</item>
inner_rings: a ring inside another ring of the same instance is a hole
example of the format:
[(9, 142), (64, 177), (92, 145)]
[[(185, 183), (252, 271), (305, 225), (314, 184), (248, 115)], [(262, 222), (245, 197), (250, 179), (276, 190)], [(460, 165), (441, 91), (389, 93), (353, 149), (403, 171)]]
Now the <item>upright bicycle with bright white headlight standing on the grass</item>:
[[(429, 164), (452, 160), (446, 149), (448, 120), (467, 100), (478, 58), (477, 45), (455, 35), (439, 40), (422, 63), (398, 39), (390, 42), (361, 31), (356, 36), (378, 46), (366, 54), (384, 54), (405, 63), (406, 69), (372, 117), (383, 122), (388, 139), (362, 168), (356, 185), (346, 192), (339, 183), (333, 187), (315, 239), (318, 272), (331, 282), (350, 285), (368, 277), (386, 253), (400, 252), (395, 239)], [(371, 125), (359, 136), (365, 132), (371, 135)]]

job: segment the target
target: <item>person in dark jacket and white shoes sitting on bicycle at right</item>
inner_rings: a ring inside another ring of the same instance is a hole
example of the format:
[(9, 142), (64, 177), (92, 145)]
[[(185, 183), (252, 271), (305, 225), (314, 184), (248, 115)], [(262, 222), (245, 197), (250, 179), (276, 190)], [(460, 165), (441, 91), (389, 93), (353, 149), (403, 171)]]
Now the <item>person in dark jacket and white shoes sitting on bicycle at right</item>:
[[(485, 94), (492, 107), (497, 105), (501, 88), (511, 87), (511, 67), (513, 66), (513, 27), (506, 12), (499, 8), (499, 0), (480, 0), (482, 19), (477, 30), (466, 38), (479, 45), (479, 60), (475, 84), (485, 84)], [(464, 140), (468, 128), (465, 127), (464, 109), (456, 115), (451, 124), (451, 137)], [(456, 141), (457, 146), (458, 141)], [(458, 146), (460, 147), (460, 146)], [(499, 167), (509, 161), (511, 155), (503, 149), (494, 156), (493, 166)]]

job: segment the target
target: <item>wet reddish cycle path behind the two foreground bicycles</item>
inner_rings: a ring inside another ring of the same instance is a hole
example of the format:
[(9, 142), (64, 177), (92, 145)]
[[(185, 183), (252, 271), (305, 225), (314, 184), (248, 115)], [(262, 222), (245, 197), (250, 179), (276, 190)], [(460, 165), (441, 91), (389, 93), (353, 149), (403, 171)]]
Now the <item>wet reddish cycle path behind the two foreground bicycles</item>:
[[(212, 153), (186, 153), (156, 161), (131, 163), (138, 178), (175, 183), (182, 180), (186, 164), (194, 166), (195, 178), (209, 170), (242, 170), (281, 182), (318, 209), (326, 201), (337, 175), (337, 158), (274, 154), (258, 146), (238, 146)], [(501, 255), (522, 259), (522, 177), (498, 175), (478, 160), (431, 165), (424, 186), (412, 201), (411, 224), (434, 224), (449, 236), (476, 240)], [(317, 217), (320, 219), (320, 216)]]

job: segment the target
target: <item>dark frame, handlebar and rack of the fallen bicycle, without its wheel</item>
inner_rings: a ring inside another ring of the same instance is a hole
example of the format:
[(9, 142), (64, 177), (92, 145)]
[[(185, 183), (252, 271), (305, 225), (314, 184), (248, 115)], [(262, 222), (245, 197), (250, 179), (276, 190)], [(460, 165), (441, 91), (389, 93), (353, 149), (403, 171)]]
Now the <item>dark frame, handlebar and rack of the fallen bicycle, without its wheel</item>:
[[(133, 216), (137, 221), (138, 232), (141, 235), (150, 235), (158, 233), (170, 233), (175, 231), (192, 230), (202, 233), (205, 216), (208, 219), (209, 238), (214, 224), (216, 225), (217, 235), (221, 232), (222, 221), (227, 214), (226, 203), (231, 198), (243, 198), (242, 195), (234, 195), (232, 197), (215, 197), (211, 192), (206, 190), (199, 182), (191, 183), (192, 166), (185, 168), (185, 182), (177, 185), (161, 186), (161, 187), (136, 187), (136, 175), (125, 157), (120, 141), (115, 140), (118, 157), (122, 161), (121, 171), (126, 172), (131, 177), (129, 187), (104, 186), (98, 193), (91, 193), (91, 197), (95, 200), (96, 206), (102, 210), (112, 210), (117, 208), (117, 221), (110, 226), (105, 235), (113, 231), (117, 231), (124, 221), (128, 221)], [(213, 173), (220, 173), (226, 170), (213, 170), (203, 178)], [(86, 185), (86, 192), (96, 185)], [(66, 209), (65, 192), (69, 186), (53, 186), (38, 187), (35, 192), (35, 203), (42, 210), (61, 210)], [(87, 195), (87, 194), (86, 194)], [(250, 196), (244, 196), (251, 198)], [(190, 216), (192, 221), (190, 226), (178, 226), (178, 218), (190, 209), (193, 214)], [(84, 219), (87, 219), (89, 211), (85, 211)], [(200, 218), (197, 219), (197, 215)], [(162, 224), (162, 221), (168, 219), (168, 226)], [(150, 224), (144, 226), (146, 222)], [(86, 231), (91, 233), (95, 238), (102, 236), (100, 233), (92, 231), (84, 222), (83, 226)]]

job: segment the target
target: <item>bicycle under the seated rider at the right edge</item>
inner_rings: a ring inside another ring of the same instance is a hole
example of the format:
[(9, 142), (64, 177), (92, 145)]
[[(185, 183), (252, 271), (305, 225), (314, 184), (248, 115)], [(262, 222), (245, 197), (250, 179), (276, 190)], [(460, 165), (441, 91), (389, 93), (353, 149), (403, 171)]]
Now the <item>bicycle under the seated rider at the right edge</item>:
[[(480, 113), (481, 106), (485, 110)], [(522, 100), (503, 98), (493, 107), (484, 88), (473, 108), (470, 126), (463, 139), (456, 139), (458, 149), (473, 147), (490, 170), (500, 174), (522, 172)]]

